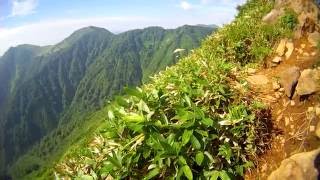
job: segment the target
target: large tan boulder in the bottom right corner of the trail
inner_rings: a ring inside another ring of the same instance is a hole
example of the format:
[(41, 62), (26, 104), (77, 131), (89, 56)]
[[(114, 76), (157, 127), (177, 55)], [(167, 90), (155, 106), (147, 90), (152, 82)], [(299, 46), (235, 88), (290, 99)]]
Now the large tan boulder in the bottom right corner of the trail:
[(268, 180), (311, 180), (318, 178), (320, 148), (295, 154), (281, 162)]

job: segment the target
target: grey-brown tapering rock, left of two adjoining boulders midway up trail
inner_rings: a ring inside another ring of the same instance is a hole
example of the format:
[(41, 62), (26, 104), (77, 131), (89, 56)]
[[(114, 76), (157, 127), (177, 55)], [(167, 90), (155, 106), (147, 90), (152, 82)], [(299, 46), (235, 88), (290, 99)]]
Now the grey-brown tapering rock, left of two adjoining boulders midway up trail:
[(285, 94), (291, 98), (294, 88), (300, 77), (300, 69), (296, 66), (291, 67), (280, 74), (280, 84), (284, 88)]

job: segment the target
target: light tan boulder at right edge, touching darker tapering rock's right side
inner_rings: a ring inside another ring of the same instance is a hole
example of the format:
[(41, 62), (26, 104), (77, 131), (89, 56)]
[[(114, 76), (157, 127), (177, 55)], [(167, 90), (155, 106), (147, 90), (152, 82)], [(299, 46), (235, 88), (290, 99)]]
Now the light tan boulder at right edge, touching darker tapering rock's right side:
[(310, 95), (320, 90), (320, 73), (315, 69), (302, 71), (296, 88), (299, 96)]

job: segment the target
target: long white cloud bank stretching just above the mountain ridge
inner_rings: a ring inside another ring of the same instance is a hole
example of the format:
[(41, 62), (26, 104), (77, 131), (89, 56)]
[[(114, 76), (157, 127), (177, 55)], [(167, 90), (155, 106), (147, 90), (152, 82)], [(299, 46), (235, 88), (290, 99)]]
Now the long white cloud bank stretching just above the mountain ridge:
[(53, 45), (74, 31), (87, 27), (98, 26), (112, 32), (123, 32), (147, 26), (175, 27), (179, 24), (169, 19), (146, 17), (91, 17), (78, 19), (47, 19), (42, 22), (12, 28), (0, 28), (0, 56), (9, 48), (19, 44)]

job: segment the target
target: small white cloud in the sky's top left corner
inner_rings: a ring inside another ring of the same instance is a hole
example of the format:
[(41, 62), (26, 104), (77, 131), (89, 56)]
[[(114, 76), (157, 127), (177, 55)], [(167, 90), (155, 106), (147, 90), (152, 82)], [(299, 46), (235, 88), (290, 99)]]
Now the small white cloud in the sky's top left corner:
[(13, 0), (10, 16), (25, 16), (35, 12), (37, 0)]

